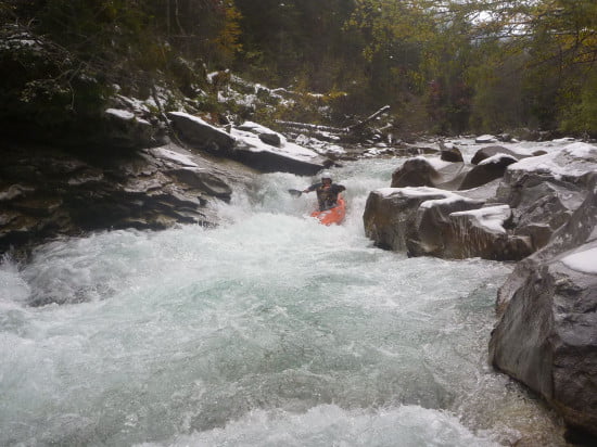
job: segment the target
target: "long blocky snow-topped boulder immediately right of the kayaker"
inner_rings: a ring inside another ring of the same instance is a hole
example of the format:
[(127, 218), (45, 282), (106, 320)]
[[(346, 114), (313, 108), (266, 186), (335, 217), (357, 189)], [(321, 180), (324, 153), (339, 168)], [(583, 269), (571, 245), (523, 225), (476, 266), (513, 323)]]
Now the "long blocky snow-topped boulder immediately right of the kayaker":
[(363, 216), (365, 233), (376, 245), (409, 256), (518, 260), (531, 253), (528, 238), (505, 229), (507, 205), (433, 188), (372, 191)]

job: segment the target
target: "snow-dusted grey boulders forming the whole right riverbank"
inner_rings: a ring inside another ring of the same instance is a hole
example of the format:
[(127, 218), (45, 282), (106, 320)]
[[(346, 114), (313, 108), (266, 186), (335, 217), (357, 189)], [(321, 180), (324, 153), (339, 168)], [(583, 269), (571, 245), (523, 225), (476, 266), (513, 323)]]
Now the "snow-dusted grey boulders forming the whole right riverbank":
[(597, 436), (597, 146), (490, 146), (470, 164), (449, 152), (408, 159), (370, 193), (367, 235), (409, 256), (520, 261), (497, 297), (490, 361)]

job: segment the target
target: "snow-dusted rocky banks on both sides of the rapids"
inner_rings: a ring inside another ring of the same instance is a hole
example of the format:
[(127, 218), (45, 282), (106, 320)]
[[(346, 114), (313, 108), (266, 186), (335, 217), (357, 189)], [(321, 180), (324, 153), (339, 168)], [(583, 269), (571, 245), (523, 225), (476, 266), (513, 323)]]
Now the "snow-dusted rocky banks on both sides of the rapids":
[[(139, 135), (126, 130), (142, 119), (135, 111), (109, 114), (122, 135)], [(259, 173), (310, 176), (342, 159), (417, 155), (370, 193), (366, 234), (409, 256), (519, 261), (497, 299), (491, 361), (570, 427), (596, 435), (597, 146), (493, 144), (465, 161), (454, 145), (346, 149), (308, 137), (297, 144), (255, 123), (219, 128), (186, 113), (169, 117), (177, 143), (135, 149), (131, 137), (126, 150), (88, 153), (4, 145), (0, 251), (26, 255), (96, 230), (217, 226), (216, 203), (252, 188)]]

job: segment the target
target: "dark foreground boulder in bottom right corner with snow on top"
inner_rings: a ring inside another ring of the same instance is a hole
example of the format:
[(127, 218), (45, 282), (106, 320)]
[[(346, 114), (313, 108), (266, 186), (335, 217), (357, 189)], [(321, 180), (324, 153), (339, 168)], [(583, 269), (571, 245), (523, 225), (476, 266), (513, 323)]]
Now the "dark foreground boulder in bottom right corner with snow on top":
[[(593, 271), (570, 260), (593, 257)], [(597, 436), (597, 242), (538, 263), (492, 333), (492, 363)], [(568, 260), (568, 261), (567, 261)]]

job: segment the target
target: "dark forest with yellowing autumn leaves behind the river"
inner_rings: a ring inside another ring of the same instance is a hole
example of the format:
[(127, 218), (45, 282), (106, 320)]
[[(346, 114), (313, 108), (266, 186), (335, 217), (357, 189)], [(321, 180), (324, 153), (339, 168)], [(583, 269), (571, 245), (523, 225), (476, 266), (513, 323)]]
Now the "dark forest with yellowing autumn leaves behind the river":
[[(402, 131), (597, 137), (595, 0), (3, 0), (0, 23), (0, 122), (15, 132), (160, 88), (271, 125), (344, 126), (389, 104)], [(215, 71), (303, 94), (224, 104)]]

